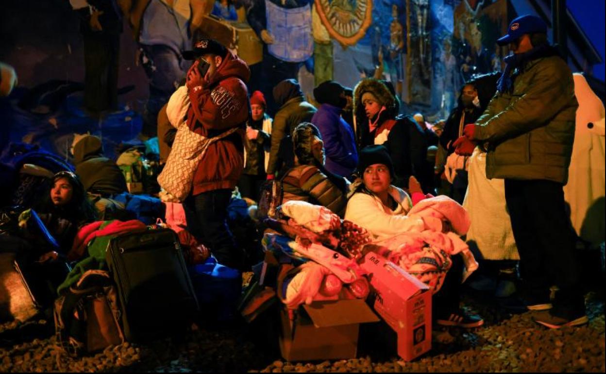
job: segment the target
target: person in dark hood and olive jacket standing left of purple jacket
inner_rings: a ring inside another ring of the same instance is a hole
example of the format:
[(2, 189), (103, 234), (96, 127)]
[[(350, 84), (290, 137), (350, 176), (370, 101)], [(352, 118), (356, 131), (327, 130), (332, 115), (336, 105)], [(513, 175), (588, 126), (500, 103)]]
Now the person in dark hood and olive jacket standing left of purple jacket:
[[(273, 98), (279, 109), (273, 119), (271, 129), (271, 150), (267, 165), (267, 176), (273, 175), (294, 163), (290, 136), (301, 122), (311, 121), (316, 108), (305, 101), (301, 85), (295, 79), (285, 79), (273, 88)], [(281, 164), (284, 163), (284, 166)]]

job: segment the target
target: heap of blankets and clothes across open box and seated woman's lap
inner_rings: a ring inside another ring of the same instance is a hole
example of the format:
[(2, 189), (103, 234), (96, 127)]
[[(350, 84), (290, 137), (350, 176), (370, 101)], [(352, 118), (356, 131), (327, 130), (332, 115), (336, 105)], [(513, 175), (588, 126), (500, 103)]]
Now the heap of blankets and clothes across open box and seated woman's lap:
[[(365, 271), (359, 265), (367, 252), (384, 256), (438, 292), (451, 267), (452, 255), (461, 253), (467, 273), (478, 268), (467, 244), (469, 217), (447, 196), (419, 202), (408, 213), (410, 230), (390, 238), (375, 239), (353, 222), (341, 220), (325, 207), (303, 201), (281, 205), (277, 219), (265, 223), (263, 245), (281, 269), (276, 295), (289, 309), (312, 301), (366, 298)], [(282, 267), (284, 268), (284, 266)]]

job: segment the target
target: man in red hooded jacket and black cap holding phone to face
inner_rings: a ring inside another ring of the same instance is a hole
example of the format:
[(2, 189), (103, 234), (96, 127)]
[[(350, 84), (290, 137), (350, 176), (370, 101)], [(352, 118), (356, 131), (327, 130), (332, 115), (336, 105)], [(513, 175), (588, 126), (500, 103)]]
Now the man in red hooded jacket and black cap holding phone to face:
[[(250, 107), (245, 82), (250, 70), (213, 39), (201, 39), (182, 55), (195, 60), (186, 82), (191, 101), (189, 129), (209, 139), (223, 136), (208, 146), (193, 179), (202, 242), (220, 264), (241, 269), (244, 253), (237, 249), (226, 218), (231, 191), (244, 169), (244, 130)], [(204, 73), (200, 67), (206, 63), (210, 65)], [(231, 133), (226, 136), (227, 132)]]

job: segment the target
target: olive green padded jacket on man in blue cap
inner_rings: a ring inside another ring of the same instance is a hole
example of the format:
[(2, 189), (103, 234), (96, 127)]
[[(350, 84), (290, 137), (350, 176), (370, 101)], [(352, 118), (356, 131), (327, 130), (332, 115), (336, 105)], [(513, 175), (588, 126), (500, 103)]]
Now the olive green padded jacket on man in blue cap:
[(474, 139), (488, 150), (486, 176), (566, 184), (579, 106), (570, 68), (547, 56), (514, 76), (513, 92), (496, 93), (476, 121)]

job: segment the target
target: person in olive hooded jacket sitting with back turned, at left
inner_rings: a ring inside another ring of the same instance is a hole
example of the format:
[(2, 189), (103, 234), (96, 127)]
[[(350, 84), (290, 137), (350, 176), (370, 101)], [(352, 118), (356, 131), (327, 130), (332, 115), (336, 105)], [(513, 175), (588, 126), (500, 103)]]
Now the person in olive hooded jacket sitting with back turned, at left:
[(124, 174), (116, 162), (103, 155), (101, 139), (88, 135), (80, 139), (73, 149), (76, 175), (86, 192), (108, 197), (127, 192)]

